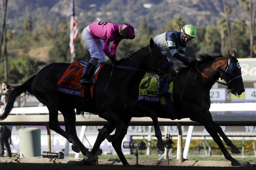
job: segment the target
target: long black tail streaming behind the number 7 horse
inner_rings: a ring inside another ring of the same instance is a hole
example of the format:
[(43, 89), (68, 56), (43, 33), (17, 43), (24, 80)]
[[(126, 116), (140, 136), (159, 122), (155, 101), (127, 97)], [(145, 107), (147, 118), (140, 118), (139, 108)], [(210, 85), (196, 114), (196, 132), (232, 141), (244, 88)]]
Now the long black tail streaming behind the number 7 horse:
[(13, 89), (8, 91), (8, 95), (6, 96), (6, 105), (4, 107), (4, 112), (0, 114), (0, 120), (6, 119), (6, 117), (10, 114), (10, 112), (13, 109), (13, 104), (16, 101), (16, 99), (21, 95), (22, 93), (25, 93), (27, 95), (33, 95), (33, 92), (31, 90), (31, 84), (34, 80), (36, 75), (30, 77), (25, 83), (19, 86), (11, 86)]

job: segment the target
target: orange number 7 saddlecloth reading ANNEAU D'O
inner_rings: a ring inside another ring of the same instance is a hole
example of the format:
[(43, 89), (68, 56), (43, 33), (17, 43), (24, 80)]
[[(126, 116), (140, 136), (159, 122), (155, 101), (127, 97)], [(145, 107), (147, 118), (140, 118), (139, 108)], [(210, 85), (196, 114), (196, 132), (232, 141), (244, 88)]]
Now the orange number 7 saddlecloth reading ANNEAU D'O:
[(80, 78), (83, 74), (84, 64), (86, 63), (83, 62), (80, 64), (76, 61), (72, 62), (57, 83), (55, 91), (80, 97), (85, 97), (85, 92), (88, 91), (91, 94), (91, 98), (93, 98), (93, 87), (97, 81), (101, 68), (105, 64), (98, 64), (93, 68), (94, 71), (92, 72), (91, 76), (94, 83), (91, 86), (80, 84)]

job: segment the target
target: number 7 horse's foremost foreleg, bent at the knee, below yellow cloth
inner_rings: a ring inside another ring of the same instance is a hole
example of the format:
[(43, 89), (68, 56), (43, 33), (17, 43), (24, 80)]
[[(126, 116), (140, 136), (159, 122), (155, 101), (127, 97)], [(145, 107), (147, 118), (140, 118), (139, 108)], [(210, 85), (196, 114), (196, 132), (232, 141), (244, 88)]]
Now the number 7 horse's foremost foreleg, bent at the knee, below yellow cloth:
[(135, 107), (131, 112), (131, 116), (132, 117), (150, 117), (152, 119), (154, 128), (155, 128), (155, 136), (158, 140), (156, 147), (157, 149), (164, 151), (165, 150), (164, 142), (162, 139), (162, 132), (157, 119), (157, 114), (153, 110), (141, 107), (139, 105), (135, 105)]

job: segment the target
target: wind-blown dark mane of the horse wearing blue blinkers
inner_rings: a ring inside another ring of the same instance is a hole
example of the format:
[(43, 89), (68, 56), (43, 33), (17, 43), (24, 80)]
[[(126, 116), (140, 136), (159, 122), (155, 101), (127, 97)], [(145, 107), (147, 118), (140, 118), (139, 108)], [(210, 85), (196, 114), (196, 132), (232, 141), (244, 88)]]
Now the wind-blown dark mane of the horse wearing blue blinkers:
[[(211, 61), (211, 60), (215, 60), (217, 58), (222, 58), (222, 57), (226, 57), (227, 55), (221, 55), (221, 54), (218, 54), (218, 53), (212, 53), (212, 54), (209, 54), (209, 53), (202, 53), (202, 54), (197, 54), (197, 57), (199, 58), (199, 60), (197, 61), (198, 64), (201, 64), (201, 63), (205, 63), (205, 62), (208, 62), (208, 61)], [(183, 63), (183, 67), (178, 67), (176, 70), (177, 71), (184, 71), (184, 70), (189, 70), (190, 67), (187, 66), (186, 64)]]

